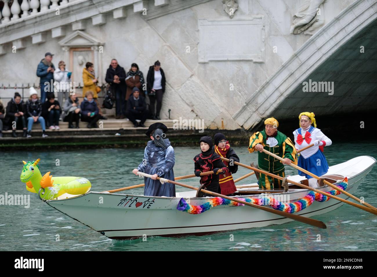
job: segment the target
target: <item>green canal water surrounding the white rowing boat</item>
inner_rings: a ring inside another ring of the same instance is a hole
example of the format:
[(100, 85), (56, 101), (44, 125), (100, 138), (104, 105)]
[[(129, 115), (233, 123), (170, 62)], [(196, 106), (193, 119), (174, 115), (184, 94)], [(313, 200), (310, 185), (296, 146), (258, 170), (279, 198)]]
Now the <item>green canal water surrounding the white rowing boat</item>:
[[(248, 153), (247, 147), (234, 147), (241, 162), (257, 163), (257, 153)], [(300, 222), (270, 225), (263, 228), (234, 230), (208, 236), (187, 236), (179, 238), (148, 237), (136, 240), (111, 240), (89, 227), (71, 219), (57, 210), (43, 204), (36, 194), (29, 193), (20, 182), (22, 160), (41, 159), (40, 170), (51, 171), (53, 176), (80, 176), (92, 183), (93, 191), (103, 191), (141, 183), (131, 171), (143, 157), (144, 148), (93, 149), (60, 152), (58, 150), (39, 152), (0, 152), (0, 194), (30, 194), (30, 207), (0, 205), (0, 250), (26, 251), (376, 251), (377, 217), (351, 207), (342, 207), (313, 218), (326, 223), (322, 230)], [(175, 176), (193, 173), (193, 157), (199, 147), (175, 147)], [(375, 141), (360, 143), (334, 143), (325, 148), (329, 165), (347, 161), (356, 156), (377, 157)], [(59, 159), (60, 165), (56, 165)], [(235, 179), (248, 173), (239, 168)], [(286, 174), (297, 174), (286, 166)], [(357, 197), (364, 196), (366, 202), (377, 206), (377, 165), (365, 177), (357, 189)], [(256, 182), (251, 176), (238, 184)], [(184, 183), (198, 186), (198, 179), (186, 179)], [(176, 187), (176, 191), (187, 189)], [(133, 190), (143, 193), (143, 188)], [(334, 201), (334, 200), (330, 200)], [(210, 211), (208, 211), (210, 213)], [(109, 214), (109, 216), (111, 216)], [(200, 216), (198, 215), (192, 215)], [(56, 241), (56, 235), (60, 240)], [(320, 235), (320, 241), (317, 238)], [(232, 240), (233, 238), (233, 240)]]

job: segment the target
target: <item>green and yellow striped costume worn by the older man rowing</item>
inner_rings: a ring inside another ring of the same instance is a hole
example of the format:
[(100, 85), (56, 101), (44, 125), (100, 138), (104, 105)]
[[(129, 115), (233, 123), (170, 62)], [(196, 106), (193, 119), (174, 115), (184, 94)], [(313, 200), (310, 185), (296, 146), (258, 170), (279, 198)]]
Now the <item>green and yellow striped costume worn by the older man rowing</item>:
[[(273, 120), (274, 122), (277, 122), (276, 119), (273, 118)], [(266, 119), (265, 124), (270, 124), (266, 122), (269, 122), (268, 119)], [(273, 138), (276, 139), (277, 144), (273, 147), (270, 147), (270, 144), (267, 143), (268, 138), (269, 137), (267, 136), (265, 130), (254, 133), (250, 137), (248, 148), (249, 152), (254, 152), (255, 145), (262, 144), (265, 150), (274, 153), (279, 157), (288, 158), (294, 164), (297, 164), (296, 148), (294, 147), (294, 144), (290, 138), (288, 138), (283, 133), (276, 131), (276, 133), (273, 135)], [(278, 159), (275, 159), (274, 157), (264, 152), (258, 152), (258, 168), (276, 174), (278, 176), (285, 177), (284, 164), (282, 164)], [(262, 173), (259, 174), (259, 188), (263, 188), (265, 190), (281, 189), (281, 184), (281, 180), (272, 178)]]

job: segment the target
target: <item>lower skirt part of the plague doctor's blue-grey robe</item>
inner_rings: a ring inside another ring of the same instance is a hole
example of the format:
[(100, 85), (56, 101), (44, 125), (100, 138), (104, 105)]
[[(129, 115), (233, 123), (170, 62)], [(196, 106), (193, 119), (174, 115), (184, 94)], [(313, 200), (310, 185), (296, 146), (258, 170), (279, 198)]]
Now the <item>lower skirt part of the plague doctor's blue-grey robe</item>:
[[(145, 173), (155, 174), (157, 172), (157, 167), (147, 166), (145, 168)], [(165, 173), (161, 178), (169, 179), (174, 181), (173, 168)], [(161, 184), (159, 180), (153, 180), (151, 178), (144, 177), (144, 195), (145, 196), (167, 196), (175, 197), (175, 185), (170, 183)]]

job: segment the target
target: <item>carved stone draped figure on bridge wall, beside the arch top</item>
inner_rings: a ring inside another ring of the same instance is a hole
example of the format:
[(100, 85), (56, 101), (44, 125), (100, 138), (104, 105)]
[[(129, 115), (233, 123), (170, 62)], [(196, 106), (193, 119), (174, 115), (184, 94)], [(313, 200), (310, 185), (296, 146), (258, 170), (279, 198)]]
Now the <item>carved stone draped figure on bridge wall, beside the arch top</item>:
[(325, 0), (305, 0), (295, 15), (291, 25), (291, 34), (313, 35), (325, 23), (323, 3)]

